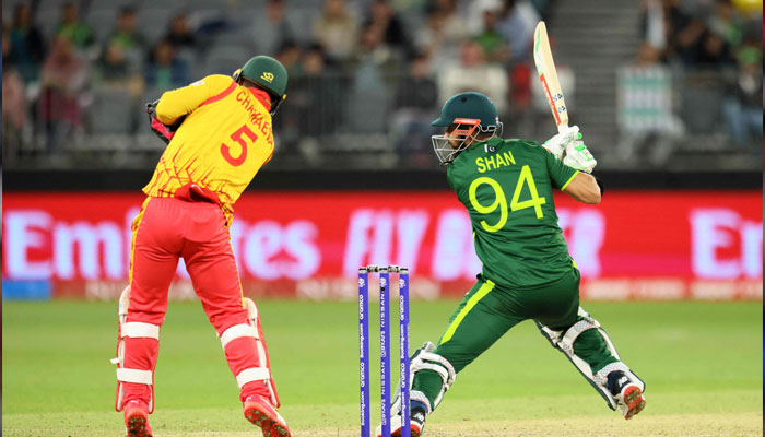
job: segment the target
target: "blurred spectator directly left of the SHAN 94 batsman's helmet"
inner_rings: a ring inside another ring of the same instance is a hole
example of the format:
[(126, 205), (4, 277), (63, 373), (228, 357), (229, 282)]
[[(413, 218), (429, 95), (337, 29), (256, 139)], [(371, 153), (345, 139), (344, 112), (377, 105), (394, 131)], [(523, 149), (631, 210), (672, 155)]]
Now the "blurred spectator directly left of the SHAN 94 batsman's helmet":
[(433, 163), (431, 135), (433, 113), (438, 106), (438, 87), (431, 75), (426, 54), (417, 54), (409, 62), (409, 73), (399, 81), (393, 102), (392, 131), (403, 160), (415, 167)]

